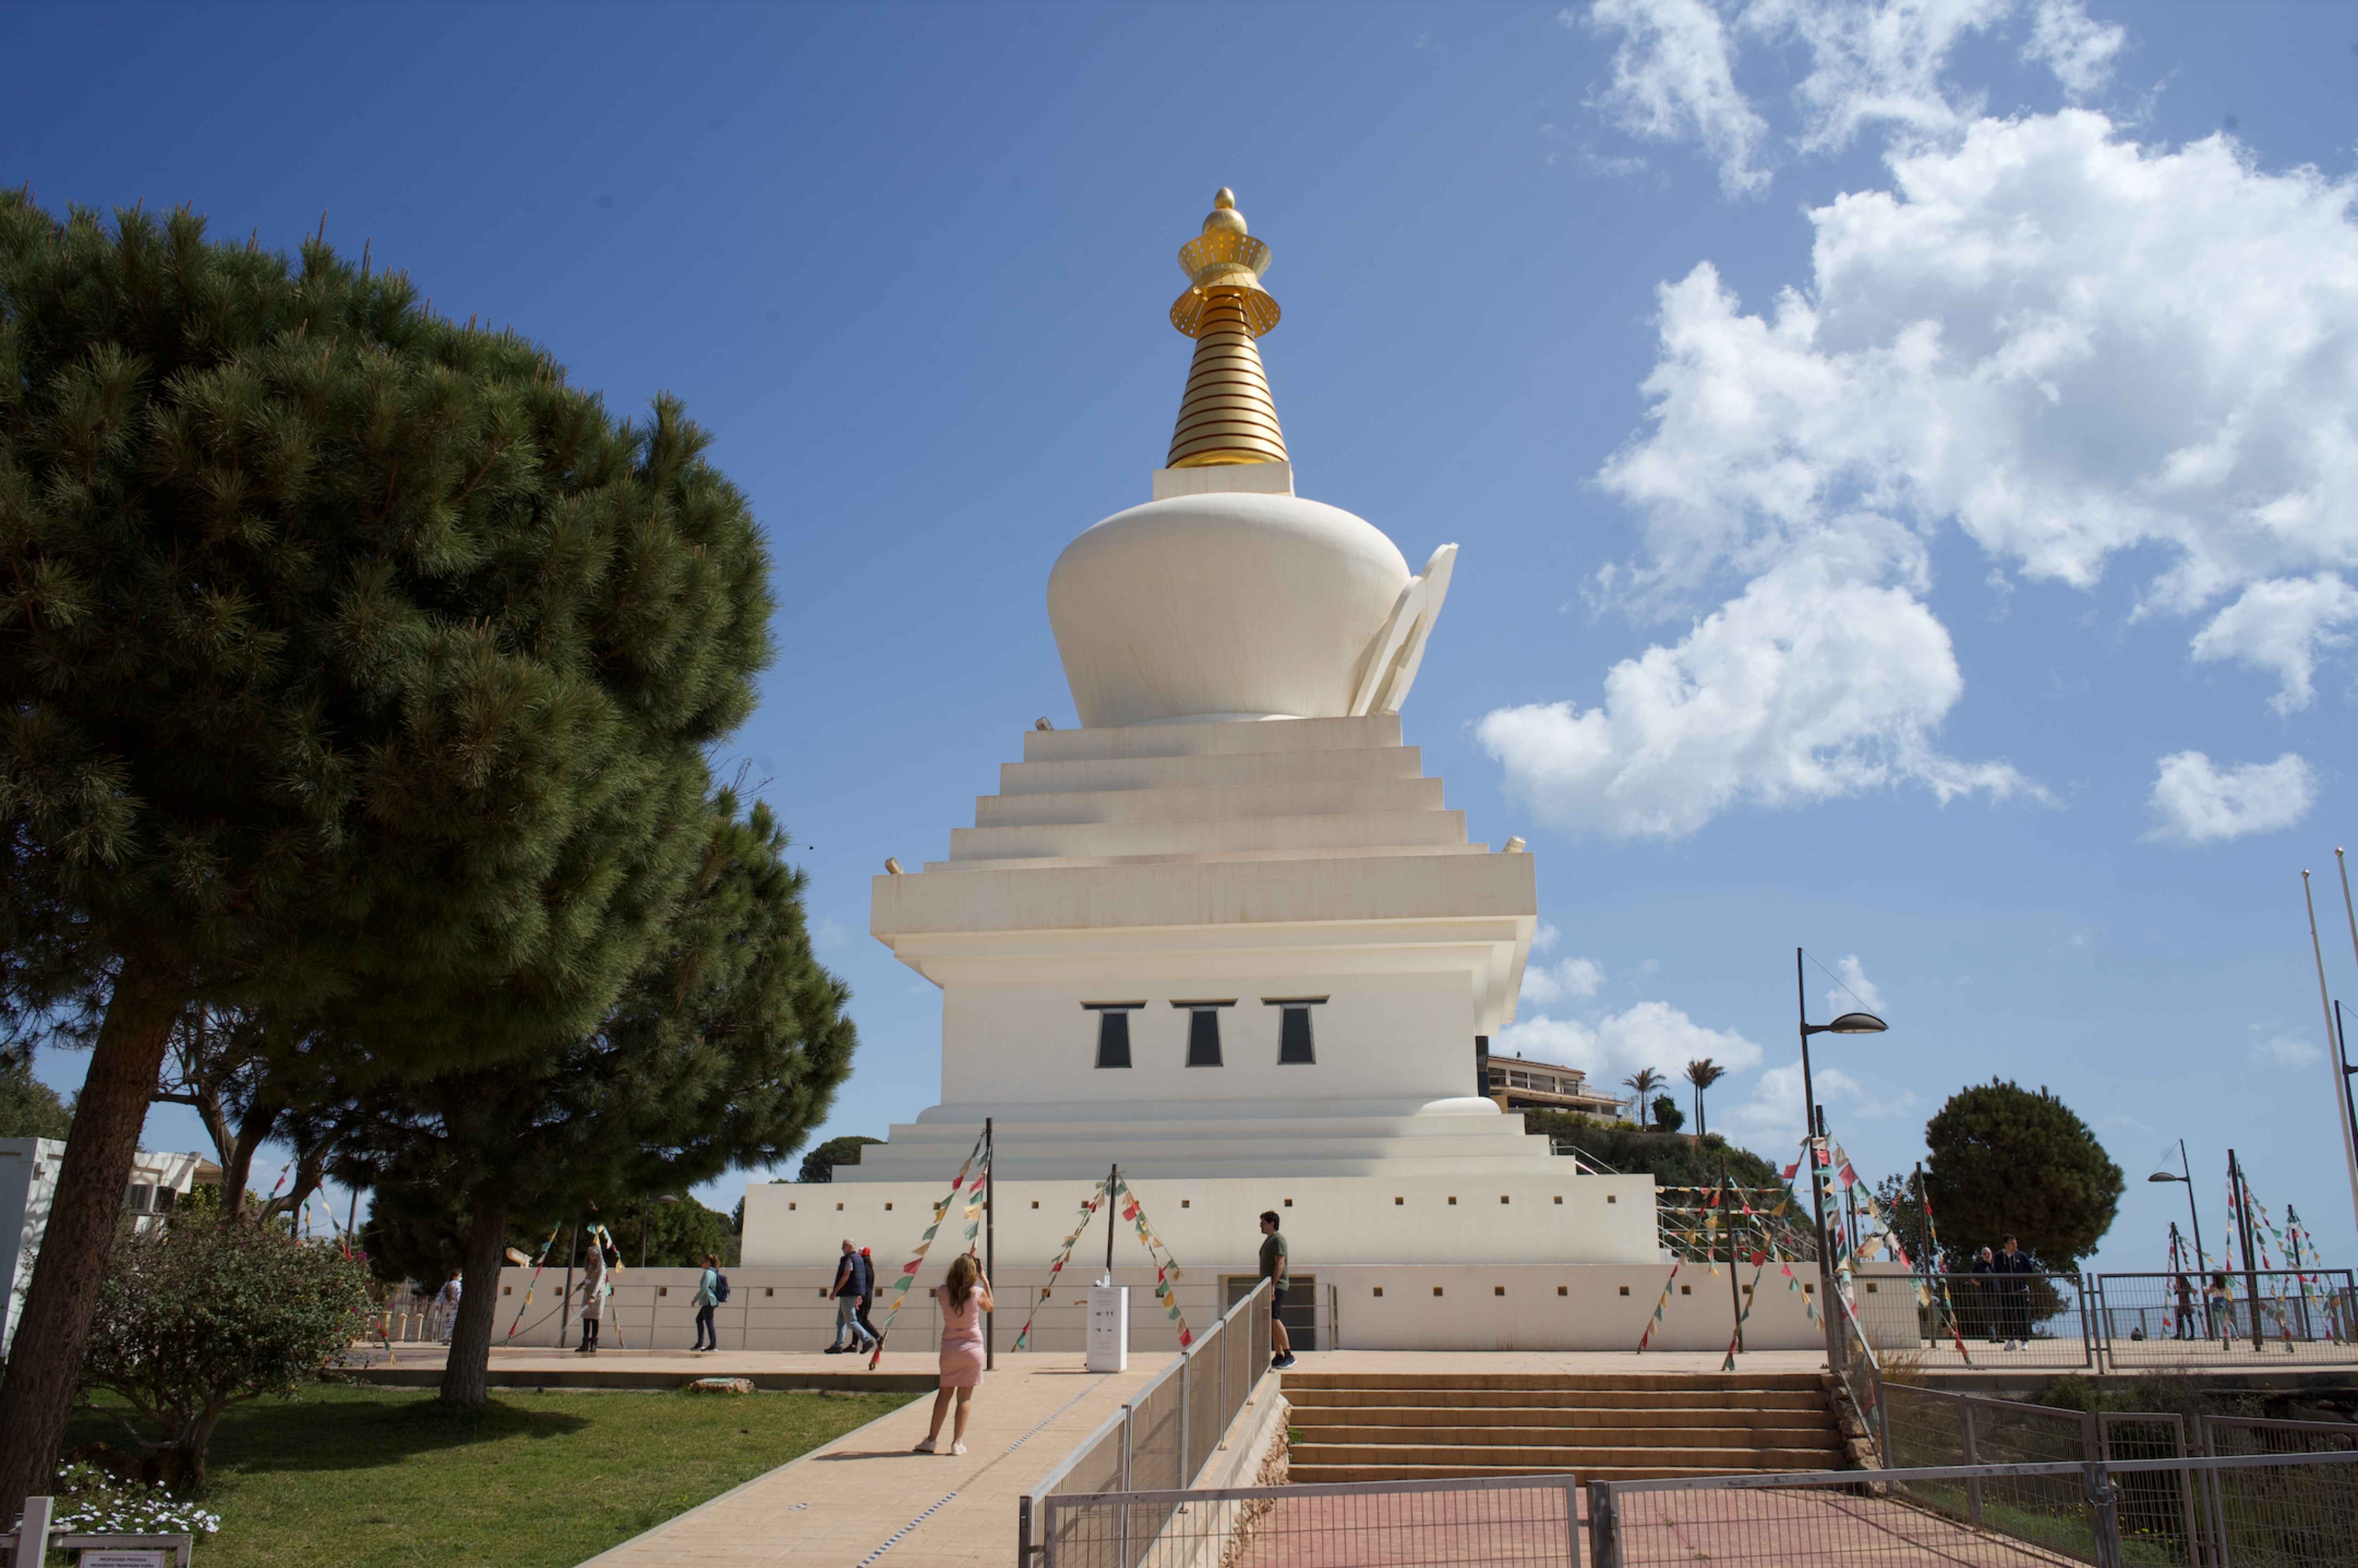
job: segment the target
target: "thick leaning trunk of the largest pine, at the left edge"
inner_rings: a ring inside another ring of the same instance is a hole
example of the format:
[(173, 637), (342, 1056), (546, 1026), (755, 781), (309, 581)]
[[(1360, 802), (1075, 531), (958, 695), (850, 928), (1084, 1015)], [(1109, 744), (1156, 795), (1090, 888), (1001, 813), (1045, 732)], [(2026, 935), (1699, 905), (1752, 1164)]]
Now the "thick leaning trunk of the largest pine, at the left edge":
[(139, 1129), (184, 1002), (170, 976), (137, 957), (123, 960), (66, 1134), (50, 1228), (24, 1316), (17, 1318), (14, 1353), (0, 1379), (0, 1518), (17, 1518), (26, 1497), (52, 1490), (106, 1250), (123, 1221)]

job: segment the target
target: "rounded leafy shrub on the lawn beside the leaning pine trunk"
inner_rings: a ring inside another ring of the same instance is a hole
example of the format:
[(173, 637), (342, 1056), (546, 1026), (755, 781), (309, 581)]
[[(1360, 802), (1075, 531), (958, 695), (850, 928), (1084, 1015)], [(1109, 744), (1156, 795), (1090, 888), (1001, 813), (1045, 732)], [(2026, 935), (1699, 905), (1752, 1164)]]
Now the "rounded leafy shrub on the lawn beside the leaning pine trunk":
[(203, 1483), (222, 1412), (337, 1365), (365, 1309), (365, 1269), (283, 1226), (208, 1212), (125, 1226), (106, 1257), (83, 1384), (123, 1396), (149, 1427), (139, 1441)]

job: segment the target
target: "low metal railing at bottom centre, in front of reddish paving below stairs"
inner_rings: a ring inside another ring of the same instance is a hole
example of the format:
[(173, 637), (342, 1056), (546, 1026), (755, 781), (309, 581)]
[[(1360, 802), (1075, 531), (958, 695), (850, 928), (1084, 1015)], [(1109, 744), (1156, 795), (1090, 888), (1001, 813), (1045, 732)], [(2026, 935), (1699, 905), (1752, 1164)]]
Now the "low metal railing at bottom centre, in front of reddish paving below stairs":
[[(1153, 1521), (1141, 1535), (1139, 1521)], [(1573, 1476), (1049, 1497), (1040, 1568), (1578, 1563)]]

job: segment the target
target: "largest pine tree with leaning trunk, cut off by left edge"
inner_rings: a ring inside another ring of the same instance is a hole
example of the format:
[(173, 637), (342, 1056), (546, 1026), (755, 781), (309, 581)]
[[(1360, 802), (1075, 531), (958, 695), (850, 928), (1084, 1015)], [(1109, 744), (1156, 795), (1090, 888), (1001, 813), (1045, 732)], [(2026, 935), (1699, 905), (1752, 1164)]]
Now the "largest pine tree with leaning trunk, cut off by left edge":
[(0, 193), (0, 981), (92, 1042), (0, 1514), (191, 1007), (299, 1016), (356, 1080), (495, 1078), (611, 1012), (769, 653), (703, 443), (318, 238)]

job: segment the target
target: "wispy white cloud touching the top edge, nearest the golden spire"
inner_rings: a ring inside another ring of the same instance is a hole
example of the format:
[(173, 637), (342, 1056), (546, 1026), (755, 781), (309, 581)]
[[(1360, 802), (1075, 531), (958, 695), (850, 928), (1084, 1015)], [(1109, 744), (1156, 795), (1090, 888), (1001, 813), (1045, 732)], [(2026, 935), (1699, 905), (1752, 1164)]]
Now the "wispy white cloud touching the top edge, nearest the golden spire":
[[(1570, 9), (1556, 21), (1582, 24)], [(1728, 196), (1768, 184), (1768, 170), (1754, 165), (1768, 125), (1735, 90), (1735, 52), (1717, 9), (1705, 0), (1596, 0), (1585, 21), (1622, 35), (1613, 85), (1594, 99), (1608, 120), (1655, 141), (1700, 141)]]

